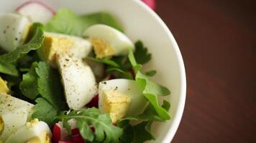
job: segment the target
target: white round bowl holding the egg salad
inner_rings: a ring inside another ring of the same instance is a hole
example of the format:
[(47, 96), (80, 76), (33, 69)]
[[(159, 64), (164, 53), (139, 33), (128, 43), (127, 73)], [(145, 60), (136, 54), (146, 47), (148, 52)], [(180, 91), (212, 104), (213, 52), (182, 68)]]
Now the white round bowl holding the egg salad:
[[(0, 13), (14, 11), (27, 0), (1, 1)], [(154, 11), (139, 0), (42, 0), (53, 9), (68, 8), (78, 14), (109, 11), (122, 24), (125, 34), (133, 41), (141, 39), (152, 53), (152, 61), (145, 69), (156, 69), (155, 80), (167, 86), (172, 94), (165, 97), (170, 104), (172, 119), (155, 123), (152, 127), (156, 140), (168, 143), (178, 129), (186, 99), (186, 73), (183, 59), (173, 34)]]

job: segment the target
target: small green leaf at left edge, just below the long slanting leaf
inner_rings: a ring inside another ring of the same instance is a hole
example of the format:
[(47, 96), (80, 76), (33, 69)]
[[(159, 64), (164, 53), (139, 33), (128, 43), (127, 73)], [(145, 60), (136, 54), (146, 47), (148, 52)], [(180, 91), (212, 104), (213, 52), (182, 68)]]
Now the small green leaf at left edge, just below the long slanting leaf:
[(14, 77), (19, 76), (16, 66), (13, 63), (4, 63), (0, 61), (0, 73), (8, 74)]

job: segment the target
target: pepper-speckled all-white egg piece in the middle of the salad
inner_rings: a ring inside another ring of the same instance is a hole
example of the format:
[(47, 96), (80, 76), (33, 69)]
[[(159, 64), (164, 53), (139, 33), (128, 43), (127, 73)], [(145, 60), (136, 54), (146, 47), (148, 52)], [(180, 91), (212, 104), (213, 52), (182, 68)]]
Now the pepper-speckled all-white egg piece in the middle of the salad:
[(57, 56), (65, 97), (70, 109), (81, 109), (96, 94), (96, 79), (82, 59), (68, 54)]

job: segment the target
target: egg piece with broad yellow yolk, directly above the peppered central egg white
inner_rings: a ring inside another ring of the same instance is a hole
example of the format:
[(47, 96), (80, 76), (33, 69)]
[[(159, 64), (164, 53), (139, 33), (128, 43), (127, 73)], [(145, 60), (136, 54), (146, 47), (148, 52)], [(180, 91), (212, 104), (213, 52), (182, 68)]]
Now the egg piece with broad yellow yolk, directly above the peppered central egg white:
[(57, 54), (70, 54), (78, 59), (85, 58), (92, 50), (91, 43), (77, 36), (45, 32), (45, 41), (38, 50), (41, 59), (56, 66)]

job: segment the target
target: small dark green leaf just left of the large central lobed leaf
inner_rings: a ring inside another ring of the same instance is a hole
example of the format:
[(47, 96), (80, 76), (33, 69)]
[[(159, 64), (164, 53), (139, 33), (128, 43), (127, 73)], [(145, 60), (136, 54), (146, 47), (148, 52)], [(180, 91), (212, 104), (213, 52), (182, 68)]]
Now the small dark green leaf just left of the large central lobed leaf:
[(29, 99), (35, 99), (39, 94), (37, 89), (37, 73), (35, 72), (36, 67), (37, 62), (34, 62), (27, 74), (23, 74), (22, 82), (19, 84), (22, 94)]

